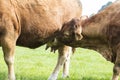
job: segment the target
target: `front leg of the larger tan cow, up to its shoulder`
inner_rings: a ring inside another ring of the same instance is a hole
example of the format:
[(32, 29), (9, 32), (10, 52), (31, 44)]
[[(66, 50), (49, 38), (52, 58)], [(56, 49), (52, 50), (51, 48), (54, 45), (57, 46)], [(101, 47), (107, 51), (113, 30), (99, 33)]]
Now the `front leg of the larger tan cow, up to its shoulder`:
[(20, 29), (14, 12), (4, 13), (0, 24), (0, 43), (4, 53), (4, 60), (8, 67), (8, 79), (15, 80), (14, 73), (14, 49)]

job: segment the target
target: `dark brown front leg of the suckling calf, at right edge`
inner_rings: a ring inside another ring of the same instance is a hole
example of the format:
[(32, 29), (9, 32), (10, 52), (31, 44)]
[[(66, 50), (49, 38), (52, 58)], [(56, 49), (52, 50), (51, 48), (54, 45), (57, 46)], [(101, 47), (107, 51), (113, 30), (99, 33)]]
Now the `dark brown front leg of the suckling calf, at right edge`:
[(118, 80), (119, 75), (120, 75), (120, 46), (117, 49), (117, 56), (116, 56), (116, 61), (115, 61), (115, 65), (113, 68), (112, 80)]

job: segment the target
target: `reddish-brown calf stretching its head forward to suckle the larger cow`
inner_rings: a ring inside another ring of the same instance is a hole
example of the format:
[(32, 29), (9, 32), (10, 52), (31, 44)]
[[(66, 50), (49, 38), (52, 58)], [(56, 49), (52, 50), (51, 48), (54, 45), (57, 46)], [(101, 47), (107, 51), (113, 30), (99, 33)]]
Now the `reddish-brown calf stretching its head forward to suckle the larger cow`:
[[(79, 37), (76, 36), (78, 34), (82, 36), (80, 41), (73, 38)], [(67, 22), (56, 39), (58, 43), (98, 51), (114, 64), (112, 80), (118, 80), (120, 74), (120, 0), (91, 17), (82, 16)]]

